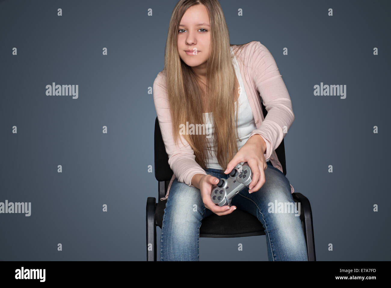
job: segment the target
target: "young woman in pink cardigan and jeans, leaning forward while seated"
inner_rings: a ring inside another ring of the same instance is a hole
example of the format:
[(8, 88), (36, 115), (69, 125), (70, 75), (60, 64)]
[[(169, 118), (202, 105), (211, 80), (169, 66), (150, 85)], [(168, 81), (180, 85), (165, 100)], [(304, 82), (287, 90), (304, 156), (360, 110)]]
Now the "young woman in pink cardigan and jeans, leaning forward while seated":
[[(268, 111), (265, 119), (258, 92)], [(256, 41), (230, 45), (217, 0), (180, 0), (170, 19), (164, 69), (154, 81), (153, 98), (174, 172), (161, 198), (167, 199), (161, 261), (199, 260), (202, 219), (236, 208), (264, 226), (269, 261), (307, 261), (300, 217), (271, 213), (269, 205), (294, 203), (294, 189), (274, 151), (294, 114), (269, 50)], [(210, 134), (183, 133), (180, 127), (190, 124), (212, 129)], [(232, 199), (231, 207), (215, 205), (213, 185), (244, 162), (253, 172), (249, 188)]]

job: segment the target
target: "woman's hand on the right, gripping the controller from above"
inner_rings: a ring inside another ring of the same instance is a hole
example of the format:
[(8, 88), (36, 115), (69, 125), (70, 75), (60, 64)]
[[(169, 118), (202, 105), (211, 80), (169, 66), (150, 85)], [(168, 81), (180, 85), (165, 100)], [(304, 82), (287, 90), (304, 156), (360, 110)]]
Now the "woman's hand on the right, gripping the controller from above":
[(248, 138), (247, 142), (239, 149), (236, 155), (227, 165), (224, 174), (229, 174), (236, 165), (247, 162), (253, 173), (253, 179), (249, 185), (249, 193), (258, 191), (265, 184), (265, 169), (267, 168), (264, 156), (266, 143), (262, 136), (254, 134)]

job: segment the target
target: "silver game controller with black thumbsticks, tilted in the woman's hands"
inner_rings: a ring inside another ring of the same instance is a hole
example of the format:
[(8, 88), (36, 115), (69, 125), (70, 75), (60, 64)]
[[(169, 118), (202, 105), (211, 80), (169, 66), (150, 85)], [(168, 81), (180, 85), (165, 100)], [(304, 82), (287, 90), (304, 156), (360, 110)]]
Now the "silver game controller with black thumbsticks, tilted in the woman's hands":
[(220, 178), (219, 183), (213, 187), (210, 195), (212, 202), (219, 206), (231, 206), (232, 198), (248, 187), (252, 178), (253, 174), (248, 163), (244, 162), (243, 165), (239, 163), (232, 169), (228, 179)]

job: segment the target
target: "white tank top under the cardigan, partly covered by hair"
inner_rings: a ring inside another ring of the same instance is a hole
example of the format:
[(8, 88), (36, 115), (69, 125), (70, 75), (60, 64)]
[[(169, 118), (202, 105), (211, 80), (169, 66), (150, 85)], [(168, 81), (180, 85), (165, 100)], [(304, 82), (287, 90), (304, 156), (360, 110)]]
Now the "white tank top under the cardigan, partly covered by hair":
[[(233, 53), (232, 48), (231, 49), (231, 54)], [(239, 107), (238, 107), (238, 122), (237, 122), (237, 127), (238, 127), (238, 136), (239, 139), (237, 140), (237, 145), (238, 145), (238, 150), (242, 148), (242, 146), (246, 143), (248, 138), (250, 137), (251, 132), (253, 132), (254, 129), (256, 129), (254, 117), (253, 117), (253, 112), (251, 111), (250, 103), (247, 98), (246, 90), (244, 89), (244, 84), (242, 81), (242, 76), (240, 75), (240, 70), (239, 70), (239, 65), (237, 62), (236, 57), (233, 57), (232, 60), (233, 67), (235, 68), (235, 74), (239, 82), (240, 86), (240, 95), (238, 100), (235, 102), (235, 120), (236, 120), (236, 106), (239, 102)], [(210, 129), (210, 137), (206, 138), (206, 141), (209, 141), (209, 145), (212, 148), (212, 157), (210, 154), (208, 154), (208, 162), (206, 164), (206, 168), (214, 168), (214, 169), (221, 169), (225, 170), (226, 167), (222, 168), (217, 161), (216, 157), (216, 151), (215, 147), (213, 145), (213, 139), (214, 139), (214, 125), (213, 125), (213, 118), (212, 118), (212, 112), (209, 113), (203, 113), (204, 115), (204, 123), (206, 125), (210, 124), (209, 127)]]

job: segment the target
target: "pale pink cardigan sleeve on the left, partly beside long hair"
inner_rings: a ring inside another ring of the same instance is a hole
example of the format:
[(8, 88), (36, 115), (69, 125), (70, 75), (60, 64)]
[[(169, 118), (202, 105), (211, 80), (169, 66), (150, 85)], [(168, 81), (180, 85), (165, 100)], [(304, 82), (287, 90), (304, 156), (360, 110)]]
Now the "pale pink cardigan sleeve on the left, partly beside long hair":
[[(166, 82), (162, 72), (156, 76), (153, 83), (153, 100), (158, 116), (161, 136), (165, 145), (165, 150), (169, 156), (169, 165), (174, 172), (178, 182), (191, 185), (191, 180), (194, 174), (207, 174), (205, 170), (195, 161), (194, 150), (190, 144), (179, 134), (180, 139), (176, 144), (172, 133), (172, 120), (170, 114), (169, 99), (166, 92)], [(179, 127), (178, 127), (179, 129)]]

